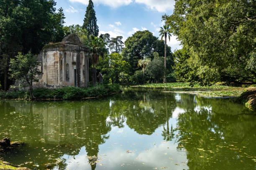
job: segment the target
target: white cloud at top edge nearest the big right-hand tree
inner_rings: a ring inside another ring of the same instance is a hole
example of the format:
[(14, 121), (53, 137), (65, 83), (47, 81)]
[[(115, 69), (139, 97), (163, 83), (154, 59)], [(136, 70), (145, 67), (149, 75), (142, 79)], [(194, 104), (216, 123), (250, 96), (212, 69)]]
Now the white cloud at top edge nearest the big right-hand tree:
[(174, 9), (174, 0), (135, 0), (137, 3), (145, 4), (151, 10), (166, 12)]

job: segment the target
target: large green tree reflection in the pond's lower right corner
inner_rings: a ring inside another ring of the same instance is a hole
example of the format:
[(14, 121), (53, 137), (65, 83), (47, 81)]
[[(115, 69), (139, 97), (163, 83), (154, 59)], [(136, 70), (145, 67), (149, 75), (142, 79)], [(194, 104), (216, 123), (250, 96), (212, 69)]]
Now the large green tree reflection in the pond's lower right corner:
[[(253, 116), (214, 115), (201, 109), (179, 115), (179, 149), (187, 150), (187, 165), (197, 169), (255, 169), (256, 156)], [(246, 147), (246, 148), (245, 148)]]

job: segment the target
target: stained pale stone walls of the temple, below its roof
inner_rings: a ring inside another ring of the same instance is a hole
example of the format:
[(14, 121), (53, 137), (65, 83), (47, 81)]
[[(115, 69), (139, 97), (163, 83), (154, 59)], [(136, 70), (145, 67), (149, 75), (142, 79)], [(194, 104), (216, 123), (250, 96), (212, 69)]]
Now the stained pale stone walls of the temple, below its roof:
[(40, 66), (40, 69), (43, 74), (38, 76), (39, 82), (34, 83), (35, 87), (54, 89), (69, 86), (85, 86), (85, 73), (87, 72), (84, 69), (88, 70), (88, 64), (85, 64), (84, 59), (88, 58), (88, 53), (77, 50), (59, 51), (54, 49), (44, 50), (42, 53), (41, 63), (43, 66)]

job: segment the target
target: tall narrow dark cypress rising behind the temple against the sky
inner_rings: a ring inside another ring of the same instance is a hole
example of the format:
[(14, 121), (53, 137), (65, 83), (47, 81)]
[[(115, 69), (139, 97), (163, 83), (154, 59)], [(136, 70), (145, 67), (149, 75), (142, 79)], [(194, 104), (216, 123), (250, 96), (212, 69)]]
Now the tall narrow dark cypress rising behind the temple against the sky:
[(88, 37), (90, 35), (98, 36), (99, 35), (99, 27), (97, 25), (97, 18), (95, 15), (95, 10), (93, 9), (93, 2), (89, 0), (89, 4), (86, 8), (85, 18), (83, 29), (86, 29), (88, 32)]

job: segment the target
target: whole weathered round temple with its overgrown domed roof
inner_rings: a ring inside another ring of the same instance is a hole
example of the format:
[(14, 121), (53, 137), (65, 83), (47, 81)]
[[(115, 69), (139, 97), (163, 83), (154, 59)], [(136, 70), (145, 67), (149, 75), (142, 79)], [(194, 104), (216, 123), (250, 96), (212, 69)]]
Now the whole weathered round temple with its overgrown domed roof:
[(42, 75), (35, 87), (55, 89), (60, 87), (88, 87), (88, 48), (76, 34), (70, 34), (61, 42), (46, 45), (38, 55)]

